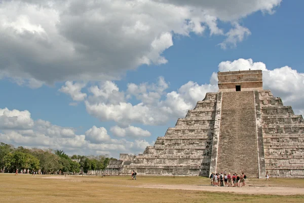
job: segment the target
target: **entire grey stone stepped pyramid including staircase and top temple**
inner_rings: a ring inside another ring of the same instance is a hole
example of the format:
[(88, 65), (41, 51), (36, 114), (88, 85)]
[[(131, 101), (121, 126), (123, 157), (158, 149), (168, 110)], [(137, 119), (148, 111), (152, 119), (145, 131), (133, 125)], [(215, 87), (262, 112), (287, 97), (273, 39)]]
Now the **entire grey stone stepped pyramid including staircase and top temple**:
[(304, 178), (304, 120), (262, 89), (262, 71), (219, 72), (218, 87), (143, 154), (121, 154), (119, 174)]

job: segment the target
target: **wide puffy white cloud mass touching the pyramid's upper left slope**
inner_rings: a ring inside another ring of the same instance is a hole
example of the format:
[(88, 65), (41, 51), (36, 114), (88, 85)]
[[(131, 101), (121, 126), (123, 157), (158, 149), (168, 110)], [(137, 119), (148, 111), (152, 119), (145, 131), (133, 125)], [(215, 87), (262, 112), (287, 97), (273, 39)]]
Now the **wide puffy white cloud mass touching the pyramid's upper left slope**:
[[(157, 83), (129, 83), (127, 94), (119, 91), (113, 82), (92, 91), (89, 99), (85, 100), (87, 112), (100, 121), (116, 121), (124, 127), (131, 123), (144, 125), (164, 125), (168, 120), (184, 117), (187, 110), (195, 107), (198, 100), (202, 100), (207, 92), (217, 90), (217, 86), (195, 82), (188, 82), (177, 91), (166, 93), (169, 84), (160, 77)], [(97, 87), (94, 87), (95, 89)], [(101, 89), (100, 89), (101, 88)], [(107, 89), (111, 89), (108, 91)], [(91, 89), (91, 88), (90, 88)], [(96, 92), (107, 92), (105, 95)], [(102, 95), (102, 96), (100, 96)], [(114, 96), (116, 95), (116, 96)], [(120, 95), (120, 96), (118, 96)], [(128, 102), (133, 96), (139, 100), (133, 105)], [(162, 96), (165, 99), (161, 99)], [(111, 99), (109, 99), (111, 98)], [(115, 98), (115, 99), (113, 99)]]

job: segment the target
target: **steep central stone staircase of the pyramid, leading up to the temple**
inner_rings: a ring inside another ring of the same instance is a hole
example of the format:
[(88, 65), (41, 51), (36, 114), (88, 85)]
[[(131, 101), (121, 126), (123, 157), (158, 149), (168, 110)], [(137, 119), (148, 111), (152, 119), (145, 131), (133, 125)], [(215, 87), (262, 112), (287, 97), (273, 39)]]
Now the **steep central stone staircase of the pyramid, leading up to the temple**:
[(223, 92), (217, 172), (258, 178), (253, 91)]

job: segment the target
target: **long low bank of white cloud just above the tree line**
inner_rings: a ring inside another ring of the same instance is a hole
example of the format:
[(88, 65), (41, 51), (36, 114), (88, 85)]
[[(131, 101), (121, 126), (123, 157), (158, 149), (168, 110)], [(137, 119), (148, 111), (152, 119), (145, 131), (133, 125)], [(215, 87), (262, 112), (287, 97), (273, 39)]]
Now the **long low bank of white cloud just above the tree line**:
[[(0, 122), (0, 140), (23, 147), (39, 147), (42, 149), (61, 149), (68, 154), (109, 154), (110, 156), (119, 157), (119, 153), (138, 153), (141, 152), (148, 143), (141, 139), (127, 141), (126, 139), (111, 139), (104, 127), (88, 129), (85, 134), (75, 133), (71, 127), (62, 127), (54, 125), (49, 121), (36, 120), (30, 118), (28, 111), (18, 110), (0, 110), (1, 115), (12, 117), (17, 115), (18, 118), (27, 117), (28, 122), (21, 122), (20, 119), (13, 119), (10, 122)], [(21, 112), (21, 113), (20, 113)], [(21, 115), (21, 116), (20, 116)], [(1, 121), (6, 118), (0, 117)], [(26, 124), (25, 124), (26, 123)], [(137, 127), (130, 127), (130, 131), (146, 135), (146, 130)]]

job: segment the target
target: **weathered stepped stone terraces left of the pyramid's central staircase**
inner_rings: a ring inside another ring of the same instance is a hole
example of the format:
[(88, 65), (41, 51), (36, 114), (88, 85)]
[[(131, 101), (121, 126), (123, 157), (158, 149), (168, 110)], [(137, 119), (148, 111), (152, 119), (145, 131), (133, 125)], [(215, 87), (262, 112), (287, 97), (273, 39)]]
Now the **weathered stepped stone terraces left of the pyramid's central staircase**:
[(207, 93), (185, 118), (146, 147), (130, 164), (123, 164), (120, 175), (208, 176), (210, 168), (217, 93)]

